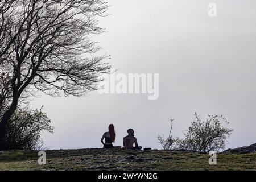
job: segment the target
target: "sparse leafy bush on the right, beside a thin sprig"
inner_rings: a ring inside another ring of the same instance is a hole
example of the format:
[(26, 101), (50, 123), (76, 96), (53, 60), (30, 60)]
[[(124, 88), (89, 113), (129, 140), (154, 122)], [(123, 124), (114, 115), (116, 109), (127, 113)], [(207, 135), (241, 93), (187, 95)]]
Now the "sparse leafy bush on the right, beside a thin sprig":
[(196, 119), (184, 133), (185, 139), (179, 140), (179, 148), (186, 150), (209, 152), (220, 151), (225, 148), (232, 129), (221, 126), (221, 121), (229, 123), (223, 115), (208, 115), (206, 121), (201, 121), (200, 115), (194, 114)]

